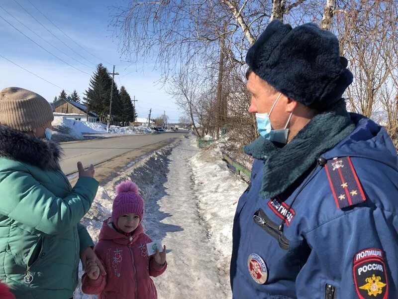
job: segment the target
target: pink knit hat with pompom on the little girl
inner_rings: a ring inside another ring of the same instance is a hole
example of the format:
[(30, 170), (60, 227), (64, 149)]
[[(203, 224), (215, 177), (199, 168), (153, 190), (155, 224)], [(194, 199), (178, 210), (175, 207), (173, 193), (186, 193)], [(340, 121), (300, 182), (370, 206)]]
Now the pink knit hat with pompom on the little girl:
[(112, 206), (113, 225), (117, 227), (117, 219), (128, 213), (137, 214), (141, 222), (144, 217), (145, 204), (138, 194), (138, 186), (132, 181), (126, 180), (116, 186), (116, 194)]

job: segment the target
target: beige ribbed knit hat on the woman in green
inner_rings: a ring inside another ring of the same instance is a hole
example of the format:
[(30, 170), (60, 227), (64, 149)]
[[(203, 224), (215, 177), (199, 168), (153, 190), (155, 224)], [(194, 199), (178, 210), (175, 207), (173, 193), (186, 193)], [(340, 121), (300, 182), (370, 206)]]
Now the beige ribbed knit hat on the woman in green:
[(0, 91), (0, 125), (27, 132), (53, 120), (50, 103), (37, 93), (20, 87)]

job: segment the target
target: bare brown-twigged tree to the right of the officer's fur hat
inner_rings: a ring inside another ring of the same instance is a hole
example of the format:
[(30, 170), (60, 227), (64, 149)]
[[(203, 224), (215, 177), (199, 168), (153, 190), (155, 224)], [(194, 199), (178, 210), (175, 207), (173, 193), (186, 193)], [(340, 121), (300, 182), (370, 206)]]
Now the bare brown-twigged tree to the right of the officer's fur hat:
[(383, 110), (382, 93), (391, 88), (397, 73), (397, 5), (396, 1), (352, 0), (336, 19), (342, 54), (354, 75), (347, 89), (350, 109), (366, 117)]

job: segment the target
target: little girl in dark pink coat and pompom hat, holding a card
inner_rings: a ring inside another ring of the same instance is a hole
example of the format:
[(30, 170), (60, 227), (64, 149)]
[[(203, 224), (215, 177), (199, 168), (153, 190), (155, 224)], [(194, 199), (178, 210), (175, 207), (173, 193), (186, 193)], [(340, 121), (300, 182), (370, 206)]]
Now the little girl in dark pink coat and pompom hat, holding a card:
[(82, 277), (86, 294), (99, 294), (98, 299), (157, 299), (150, 278), (161, 275), (167, 267), (166, 247), (152, 256), (146, 244), (152, 242), (144, 233), (141, 221), (144, 201), (138, 187), (131, 181), (116, 186), (112, 216), (103, 221), (100, 238), (94, 251), (106, 267), (106, 276), (94, 261), (87, 261)]

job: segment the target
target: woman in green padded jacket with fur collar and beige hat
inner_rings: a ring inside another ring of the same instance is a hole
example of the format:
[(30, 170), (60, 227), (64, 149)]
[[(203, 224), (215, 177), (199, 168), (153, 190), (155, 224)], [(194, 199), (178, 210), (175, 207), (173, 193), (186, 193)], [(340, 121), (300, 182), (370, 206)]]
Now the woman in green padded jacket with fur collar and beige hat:
[(94, 167), (79, 162), (72, 188), (59, 166), (62, 149), (49, 140), (53, 120), (40, 95), (0, 91), (0, 280), (17, 299), (72, 298), (79, 258), (105, 274), (80, 224), (99, 185)]

